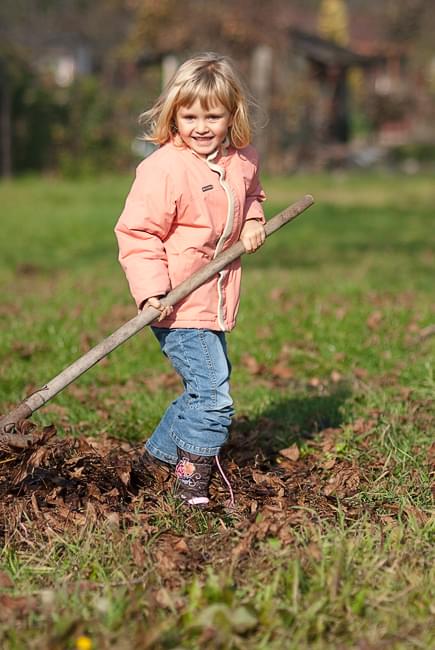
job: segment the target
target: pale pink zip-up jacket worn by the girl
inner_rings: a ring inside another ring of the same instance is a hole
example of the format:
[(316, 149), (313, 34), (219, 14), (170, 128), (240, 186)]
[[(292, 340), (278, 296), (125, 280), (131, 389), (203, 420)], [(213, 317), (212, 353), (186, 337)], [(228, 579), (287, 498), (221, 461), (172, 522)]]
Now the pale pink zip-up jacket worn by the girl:
[[(168, 143), (143, 160), (115, 227), (119, 261), (137, 305), (165, 295), (234, 244), (247, 219), (264, 223), (264, 199), (251, 146), (204, 160)], [(231, 330), (240, 276), (236, 260), (178, 303), (159, 326)]]

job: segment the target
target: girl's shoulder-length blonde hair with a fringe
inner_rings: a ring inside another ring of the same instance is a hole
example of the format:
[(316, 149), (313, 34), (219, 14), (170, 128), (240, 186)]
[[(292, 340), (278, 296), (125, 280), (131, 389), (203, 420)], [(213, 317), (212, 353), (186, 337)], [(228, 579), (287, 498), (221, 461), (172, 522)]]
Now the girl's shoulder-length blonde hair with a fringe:
[(220, 102), (230, 112), (230, 143), (241, 148), (251, 141), (252, 128), (248, 93), (230, 59), (214, 52), (198, 54), (185, 61), (175, 72), (154, 105), (142, 113), (145, 140), (165, 144), (176, 134), (175, 116), (182, 106), (199, 99), (204, 110)]

